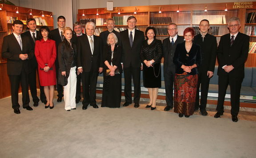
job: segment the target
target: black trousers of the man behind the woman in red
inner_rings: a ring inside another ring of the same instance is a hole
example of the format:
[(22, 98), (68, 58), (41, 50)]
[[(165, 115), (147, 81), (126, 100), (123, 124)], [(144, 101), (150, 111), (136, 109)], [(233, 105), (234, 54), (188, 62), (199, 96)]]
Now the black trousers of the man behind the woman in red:
[[(31, 73), (28, 74), (28, 84), (29, 84), (30, 93), (34, 103), (39, 102), (39, 99), (37, 97), (37, 91), (36, 91), (36, 71), (38, 72), (37, 67), (31, 67)], [(46, 99), (43, 86), (40, 86), (40, 99), (41, 101), (44, 101)]]

